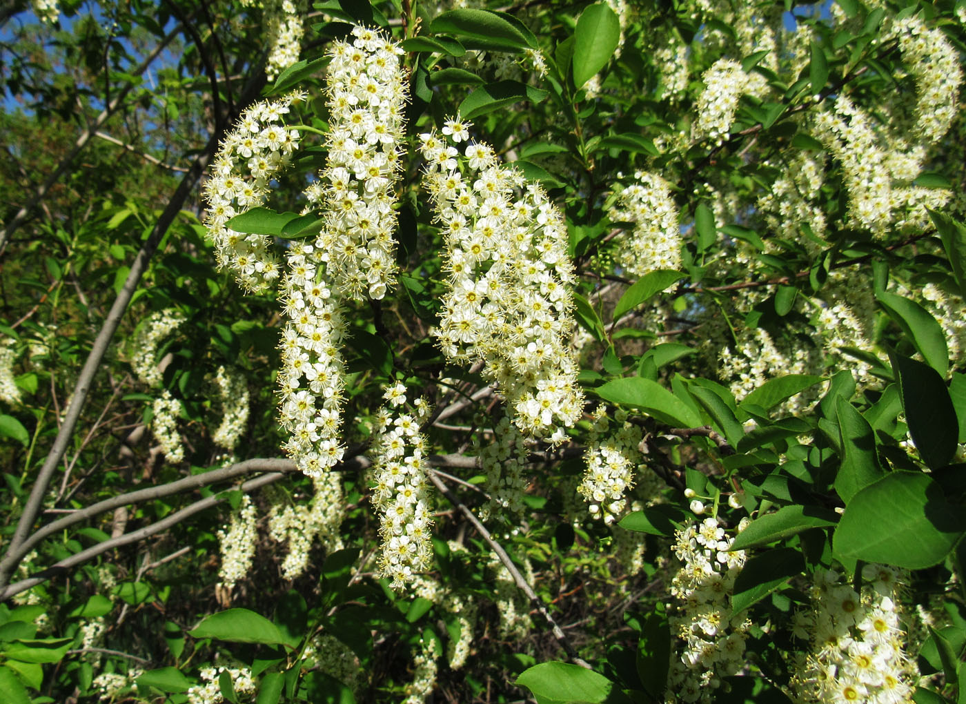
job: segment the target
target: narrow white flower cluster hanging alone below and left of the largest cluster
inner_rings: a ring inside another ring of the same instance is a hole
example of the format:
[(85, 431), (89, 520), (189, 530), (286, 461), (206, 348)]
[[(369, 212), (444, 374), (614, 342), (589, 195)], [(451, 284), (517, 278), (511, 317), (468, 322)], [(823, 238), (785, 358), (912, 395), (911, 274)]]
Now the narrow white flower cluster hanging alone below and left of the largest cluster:
[(406, 388), (386, 389), (387, 406), (380, 411), (372, 445), (376, 489), (373, 505), (380, 512), (380, 569), (393, 588), (405, 587), (412, 575), (428, 568), (433, 557), (430, 529), (426, 437), (419, 424), (429, 416), (423, 399), (404, 408)]

